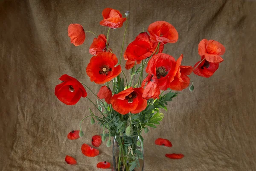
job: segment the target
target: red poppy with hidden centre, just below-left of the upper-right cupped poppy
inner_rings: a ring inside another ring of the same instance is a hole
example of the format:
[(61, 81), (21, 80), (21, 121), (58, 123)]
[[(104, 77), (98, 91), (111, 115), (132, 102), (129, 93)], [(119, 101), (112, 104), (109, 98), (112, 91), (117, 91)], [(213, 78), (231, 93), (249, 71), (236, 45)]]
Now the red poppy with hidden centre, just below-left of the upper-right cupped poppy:
[[(135, 41), (131, 42), (125, 50), (124, 58), (127, 60), (125, 68), (129, 70), (134, 67), (135, 61), (137, 61), (137, 64), (140, 64), (143, 59), (150, 57), (155, 52), (157, 44), (150, 41), (147, 32), (140, 33)], [(161, 43), (159, 48), (159, 52), (161, 53), (162, 51), (163, 43)]]

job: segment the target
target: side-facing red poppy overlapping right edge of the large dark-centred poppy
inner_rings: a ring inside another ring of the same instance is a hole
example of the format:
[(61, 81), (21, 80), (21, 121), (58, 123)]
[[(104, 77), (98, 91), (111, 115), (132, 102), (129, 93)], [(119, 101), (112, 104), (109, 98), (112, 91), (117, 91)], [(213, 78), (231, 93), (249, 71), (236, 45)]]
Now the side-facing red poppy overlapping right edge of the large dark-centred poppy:
[[(177, 59), (176, 63), (177, 65), (181, 64), (183, 55), (180, 55), (180, 58)], [(191, 72), (193, 71), (193, 67), (192, 66), (182, 66), (180, 65), (174, 80), (170, 83), (170, 89), (172, 90), (176, 90), (176, 91), (181, 91), (183, 89), (185, 89), (186, 87), (189, 86), (190, 84), (190, 78), (187, 76), (189, 74), (191, 74)]]

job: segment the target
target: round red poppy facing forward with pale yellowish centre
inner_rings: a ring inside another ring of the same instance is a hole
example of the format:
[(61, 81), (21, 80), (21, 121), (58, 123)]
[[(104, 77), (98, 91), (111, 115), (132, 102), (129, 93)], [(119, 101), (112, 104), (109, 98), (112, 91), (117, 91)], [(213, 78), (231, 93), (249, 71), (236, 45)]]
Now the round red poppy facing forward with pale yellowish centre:
[(116, 55), (111, 52), (99, 52), (98, 55), (93, 56), (86, 68), (90, 81), (96, 84), (111, 81), (122, 70), (120, 65), (114, 67), (117, 62)]

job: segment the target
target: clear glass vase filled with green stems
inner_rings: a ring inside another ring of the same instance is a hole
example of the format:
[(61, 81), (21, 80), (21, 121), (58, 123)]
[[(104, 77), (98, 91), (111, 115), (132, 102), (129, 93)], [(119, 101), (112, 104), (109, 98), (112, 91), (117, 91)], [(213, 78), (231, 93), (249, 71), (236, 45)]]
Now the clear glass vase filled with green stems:
[(139, 136), (115, 136), (112, 171), (143, 171), (143, 142)]

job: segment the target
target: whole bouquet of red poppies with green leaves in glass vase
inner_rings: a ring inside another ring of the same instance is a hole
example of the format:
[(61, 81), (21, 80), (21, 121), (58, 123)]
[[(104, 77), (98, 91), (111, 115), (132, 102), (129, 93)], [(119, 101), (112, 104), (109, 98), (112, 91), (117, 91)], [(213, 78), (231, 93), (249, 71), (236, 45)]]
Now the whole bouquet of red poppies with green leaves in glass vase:
[[(194, 67), (183, 66), (182, 54), (176, 60), (175, 57), (163, 52), (164, 46), (177, 42), (177, 30), (166, 21), (156, 21), (148, 26), (148, 32), (137, 35), (123, 53), (129, 12), (125, 15), (126, 17), (122, 17), (118, 10), (111, 8), (103, 10), (103, 20), (100, 21), (100, 25), (108, 28), (106, 35), (84, 31), (80, 24), (68, 26), (68, 36), (75, 46), (84, 43), (85, 32), (96, 36), (90, 45), (89, 52), (92, 58), (87, 65), (86, 73), (90, 81), (102, 85), (99, 92), (93, 92), (87, 85), (69, 75), (62, 75), (59, 78), (61, 84), (55, 87), (55, 96), (67, 105), (74, 105), (81, 97), (87, 97), (86, 89), (95, 96), (94, 100), (89, 98), (87, 100), (98, 112), (93, 113), (89, 109), (90, 115), (85, 116), (84, 119), (90, 118), (91, 124), (94, 124), (96, 119), (103, 128), (101, 136), (92, 139), (94, 146), (99, 146), (108, 137), (106, 145), (110, 147), (111, 136), (115, 137), (113, 141), (117, 143), (117, 155), (113, 152), (115, 171), (133, 171), (140, 167), (139, 159), (143, 159), (142, 131), (148, 133), (148, 127), (156, 128), (156, 125), (160, 124), (164, 116), (160, 109), (167, 111), (167, 102), (172, 101), (178, 91), (189, 87), (192, 81), (188, 75), (193, 72), (206, 78), (212, 76), (223, 61), (220, 55), (225, 52), (225, 47), (218, 41), (203, 39), (198, 45), (201, 60)], [(120, 45), (121, 55), (118, 58), (111, 47), (119, 45), (109, 43), (108, 38), (111, 29), (121, 28), (123, 23), (125, 23), (125, 31)], [(120, 65), (122, 62), (125, 62), (125, 69), (130, 70), (131, 76), (128, 77), (122, 71)], [(189, 90), (194, 90), (193, 83)], [(81, 122), (80, 130), (69, 133), (70, 139), (84, 136)], [(81, 151), (88, 157), (99, 154), (97, 149), (87, 144), (82, 145)], [(99, 165), (110, 167), (108, 162)]]

